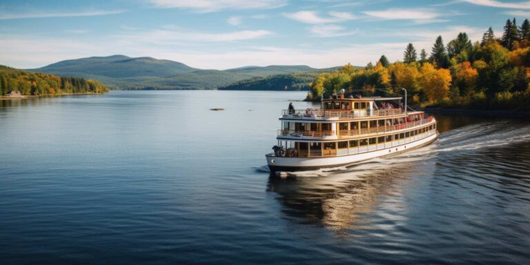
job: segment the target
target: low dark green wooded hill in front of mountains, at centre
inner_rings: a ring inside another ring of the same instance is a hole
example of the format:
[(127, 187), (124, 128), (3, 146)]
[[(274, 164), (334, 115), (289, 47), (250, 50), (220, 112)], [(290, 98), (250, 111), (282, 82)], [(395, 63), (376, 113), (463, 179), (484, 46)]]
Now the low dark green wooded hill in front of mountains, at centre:
[(268, 77), (253, 77), (237, 81), (228, 86), (218, 88), (219, 90), (288, 90), (308, 91), (311, 83), (322, 72), (336, 70), (337, 68), (326, 68), (312, 72), (295, 72), (284, 75), (270, 75)]

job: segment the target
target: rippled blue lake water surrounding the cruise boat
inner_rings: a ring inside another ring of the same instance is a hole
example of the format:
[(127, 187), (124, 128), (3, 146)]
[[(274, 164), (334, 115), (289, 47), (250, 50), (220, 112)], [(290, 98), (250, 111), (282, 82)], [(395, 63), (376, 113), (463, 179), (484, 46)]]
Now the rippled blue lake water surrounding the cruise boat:
[(0, 101), (0, 264), (530, 264), (530, 123), (438, 116), (430, 146), (270, 178), (304, 95)]

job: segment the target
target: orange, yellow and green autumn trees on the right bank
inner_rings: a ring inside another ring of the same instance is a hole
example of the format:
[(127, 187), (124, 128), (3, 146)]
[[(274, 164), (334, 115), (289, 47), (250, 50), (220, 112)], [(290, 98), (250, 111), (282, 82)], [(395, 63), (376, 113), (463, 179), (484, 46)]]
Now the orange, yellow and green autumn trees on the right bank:
[(329, 97), (344, 89), (362, 95), (394, 96), (400, 88), (409, 92), (416, 106), (446, 108), (530, 109), (530, 23), (508, 19), (501, 37), (490, 27), (481, 41), (471, 43), (460, 32), (444, 45), (441, 36), (431, 54), (420, 56), (409, 43), (403, 61), (390, 63), (382, 55), (373, 66), (346, 64), (335, 72), (319, 75), (311, 84), (308, 100)]

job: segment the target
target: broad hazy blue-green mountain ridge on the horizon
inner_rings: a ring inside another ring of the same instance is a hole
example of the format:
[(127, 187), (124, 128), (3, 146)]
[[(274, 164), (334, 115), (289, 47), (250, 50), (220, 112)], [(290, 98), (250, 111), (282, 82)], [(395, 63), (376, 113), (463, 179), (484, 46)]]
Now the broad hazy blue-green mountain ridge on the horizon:
[(244, 66), (203, 70), (177, 61), (125, 55), (88, 57), (28, 69), (52, 75), (97, 79), (112, 89), (216, 89), (253, 77), (267, 77), (319, 69), (309, 66)]

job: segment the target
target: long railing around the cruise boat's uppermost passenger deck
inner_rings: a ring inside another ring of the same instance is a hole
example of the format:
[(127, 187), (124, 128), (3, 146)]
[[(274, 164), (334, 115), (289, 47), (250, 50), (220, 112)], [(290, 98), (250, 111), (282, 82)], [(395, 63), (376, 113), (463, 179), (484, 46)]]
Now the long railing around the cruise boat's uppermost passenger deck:
[(395, 116), (402, 115), (404, 112), (400, 108), (391, 108), (385, 110), (322, 110), (319, 108), (308, 108), (305, 110), (282, 110), (283, 117), (295, 117), (299, 119), (312, 118), (330, 118), (338, 117), (341, 119), (353, 119), (373, 116)]

